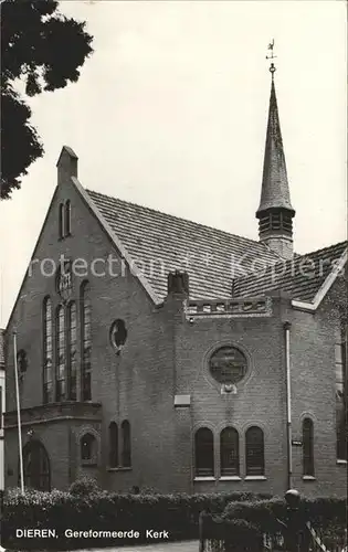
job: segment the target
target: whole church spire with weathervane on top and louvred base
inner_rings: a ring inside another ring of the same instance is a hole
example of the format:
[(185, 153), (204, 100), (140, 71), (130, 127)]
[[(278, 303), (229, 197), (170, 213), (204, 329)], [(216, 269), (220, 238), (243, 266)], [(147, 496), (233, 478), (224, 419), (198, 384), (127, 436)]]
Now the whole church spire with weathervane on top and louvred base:
[[(274, 41), (268, 45), (273, 60)], [(293, 217), (295, 211), (291, 203), (287, 182), (285, 155), (280, 125), (278, 108), (274, 86), (275, 66), (272, 61), (271, 98), (268, 124), (263, 164), (263, 178), (260, 206), (256, 212), (259, 219), (260, 241), (267, 244), (284, 258), (293, 257)]]

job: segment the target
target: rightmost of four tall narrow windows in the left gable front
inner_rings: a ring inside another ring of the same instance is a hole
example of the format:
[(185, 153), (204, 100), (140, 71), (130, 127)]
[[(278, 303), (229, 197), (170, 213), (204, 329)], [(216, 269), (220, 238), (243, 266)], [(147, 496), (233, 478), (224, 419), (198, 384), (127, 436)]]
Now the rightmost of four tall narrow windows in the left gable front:
[(91, 298), (89, 284), (85, 282), (81, 288), (82, 318), (82, 400), (92, 400), (91, 365)]

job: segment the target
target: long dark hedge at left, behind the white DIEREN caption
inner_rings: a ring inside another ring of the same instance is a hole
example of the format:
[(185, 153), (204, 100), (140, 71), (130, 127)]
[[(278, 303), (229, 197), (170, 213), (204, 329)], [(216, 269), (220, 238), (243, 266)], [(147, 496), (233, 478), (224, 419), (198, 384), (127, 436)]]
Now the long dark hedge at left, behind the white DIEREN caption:
[[(44, 548), (73, 550), (88, 546), (109, 546), (115, 543), (145, 542), (146, 530), (168, 531), (170, 540), (198, 538), (201, 511), (222, 514), (226, 505), (263, 499), (270, 495), (225, 492), (210, 495), (133, 495), (98, 489), (93, 482), (76, 481), (68, 492), (29, 490), (22, 496), (19, 489), (4, 497), (2, 542), (7, 548), (34, 550), (43, 548), (42, 539), (17, 539), (15, 529), (55, 529), (59, 539), (46, 539)], [(75, 531), (139, 531), (137, 540), (127, 539), (67, 539), (66, 529)]]

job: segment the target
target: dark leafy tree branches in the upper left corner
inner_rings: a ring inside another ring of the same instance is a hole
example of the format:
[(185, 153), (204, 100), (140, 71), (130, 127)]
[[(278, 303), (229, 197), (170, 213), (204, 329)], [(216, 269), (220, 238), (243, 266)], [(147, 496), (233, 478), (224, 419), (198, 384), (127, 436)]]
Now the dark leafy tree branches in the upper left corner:
[[(76, 82), (93, 52), (85, 22), (66, 18), (57, 8), (56, 0), (1, 2), (1, 199), (21, 187), (30, 164), (44, 152), (25, 95)], [(19, 79), (24, 97), (15, 88)]]

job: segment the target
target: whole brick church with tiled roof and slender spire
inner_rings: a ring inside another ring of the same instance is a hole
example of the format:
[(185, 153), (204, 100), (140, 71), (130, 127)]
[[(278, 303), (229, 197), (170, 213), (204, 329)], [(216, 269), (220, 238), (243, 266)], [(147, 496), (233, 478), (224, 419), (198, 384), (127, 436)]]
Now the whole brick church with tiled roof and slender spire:
[(17, 365), (27, 487), (346, 495), (347, 243), (294, 253), (274, 71), (259, 241), (86, 190), (63, 147), (4, 333), (7, 487)]

